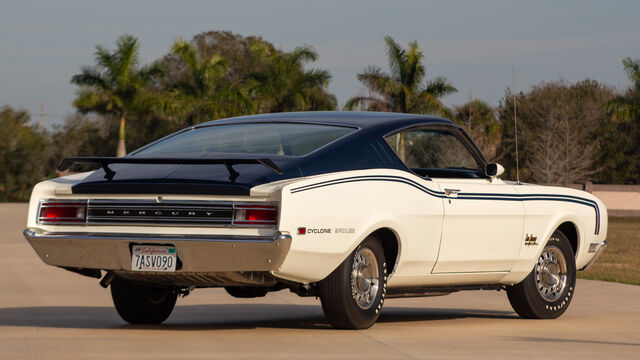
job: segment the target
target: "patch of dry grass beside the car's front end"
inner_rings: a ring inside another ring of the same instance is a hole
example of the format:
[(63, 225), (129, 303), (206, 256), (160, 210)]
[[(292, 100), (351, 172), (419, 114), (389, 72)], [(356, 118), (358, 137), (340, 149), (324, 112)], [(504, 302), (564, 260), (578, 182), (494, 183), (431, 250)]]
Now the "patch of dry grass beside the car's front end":
[(581, 279), (640, 285), (640, 218), (609, 218), (609, 246)]

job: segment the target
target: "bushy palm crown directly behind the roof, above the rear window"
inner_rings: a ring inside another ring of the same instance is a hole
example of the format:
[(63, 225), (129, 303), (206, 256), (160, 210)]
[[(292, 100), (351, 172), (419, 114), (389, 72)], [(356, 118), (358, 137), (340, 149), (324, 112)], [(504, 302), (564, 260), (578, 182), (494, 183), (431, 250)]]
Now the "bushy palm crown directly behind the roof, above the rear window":
[(301, 46), (283, 53), (256, 42), (252, 50), (254, 56), (263, 58), (265, 65), (252, 76), (259, 112), (335, 109), (336, 98), (326, 91), (331, 74), (326, 70), (304, 69), (305, 64), (318, 60), (313, 47)]

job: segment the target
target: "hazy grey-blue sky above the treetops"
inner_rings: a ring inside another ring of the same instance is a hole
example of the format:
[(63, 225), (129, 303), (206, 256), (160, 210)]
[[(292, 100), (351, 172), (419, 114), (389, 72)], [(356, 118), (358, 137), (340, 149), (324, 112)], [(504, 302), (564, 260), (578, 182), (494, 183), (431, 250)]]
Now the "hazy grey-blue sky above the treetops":
[(329, 70), (329, 91), (342, 106), (364, 95), (356, 75), (388, 69), (384, 36), (417, 41), (427, 78), (445, 76), (459, 105), (480, 98), (498, 105), (541, 81), (585, 78), (629, 86), (621, 65), (640, 57), (640, 1), (0, 0), (0, 106), (26, 109), (45, 125), (74, 113), (70, 79), (93, 64), (96, 45), (122, 34), (140, 40), (142, 63), (165, 55), (178, 38), (211, 30), (258, 35), (283, 50), (311, 45)]

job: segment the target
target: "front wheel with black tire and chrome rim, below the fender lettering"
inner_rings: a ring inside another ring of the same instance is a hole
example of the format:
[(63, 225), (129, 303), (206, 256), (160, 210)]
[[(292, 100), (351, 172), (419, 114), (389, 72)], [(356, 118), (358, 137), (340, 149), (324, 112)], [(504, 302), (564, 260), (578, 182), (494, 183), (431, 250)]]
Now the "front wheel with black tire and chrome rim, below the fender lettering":
[(576, 262), (573, 249), (569, 239), (560, 230), (556, 230), (531, 273), (521, 283), (508, 287), (507, 296), (513, 310), (522, 318), (555, 319), (567, 310), (575, 286)]

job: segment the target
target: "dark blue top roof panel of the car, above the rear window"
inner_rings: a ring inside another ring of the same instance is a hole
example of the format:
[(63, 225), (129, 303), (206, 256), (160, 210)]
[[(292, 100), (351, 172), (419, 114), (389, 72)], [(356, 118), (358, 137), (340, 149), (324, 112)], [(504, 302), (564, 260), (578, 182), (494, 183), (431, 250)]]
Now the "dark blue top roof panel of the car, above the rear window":
[(209, 121), (197, 125), (196, 127), (223, 125), (230, 123), (238, 124), (265, 122), (303, 122), (327, 125), (354, 126), (363, 129), (372, 127), (387, 127), (388, 125), (396, 125), (398, 128), (402, 128), (414, 124), (435, 122), (455, 124), (452, 121), (428, 115), (367, 111), (306, 111), (239, 116), (229, 119)]

